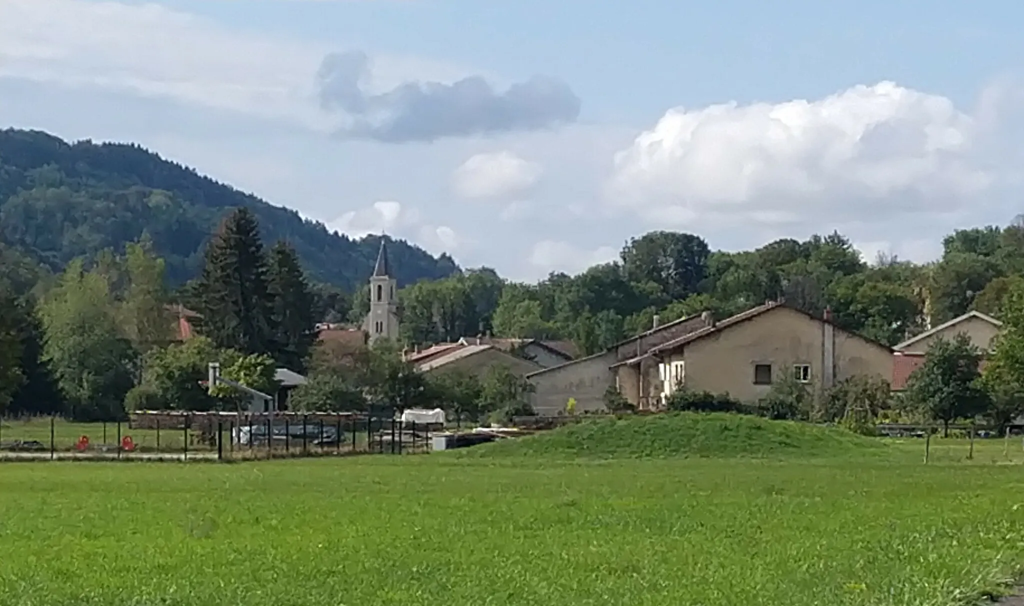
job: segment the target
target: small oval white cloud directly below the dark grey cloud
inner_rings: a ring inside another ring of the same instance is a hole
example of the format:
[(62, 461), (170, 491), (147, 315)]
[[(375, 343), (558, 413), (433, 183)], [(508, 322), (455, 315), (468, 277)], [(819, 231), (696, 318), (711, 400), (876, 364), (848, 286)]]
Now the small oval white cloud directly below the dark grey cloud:
[(512, 152), (477, 154), (452, 173), (452, 187), (466, 199), (520, 196), (537, 184), (544, 169)]

